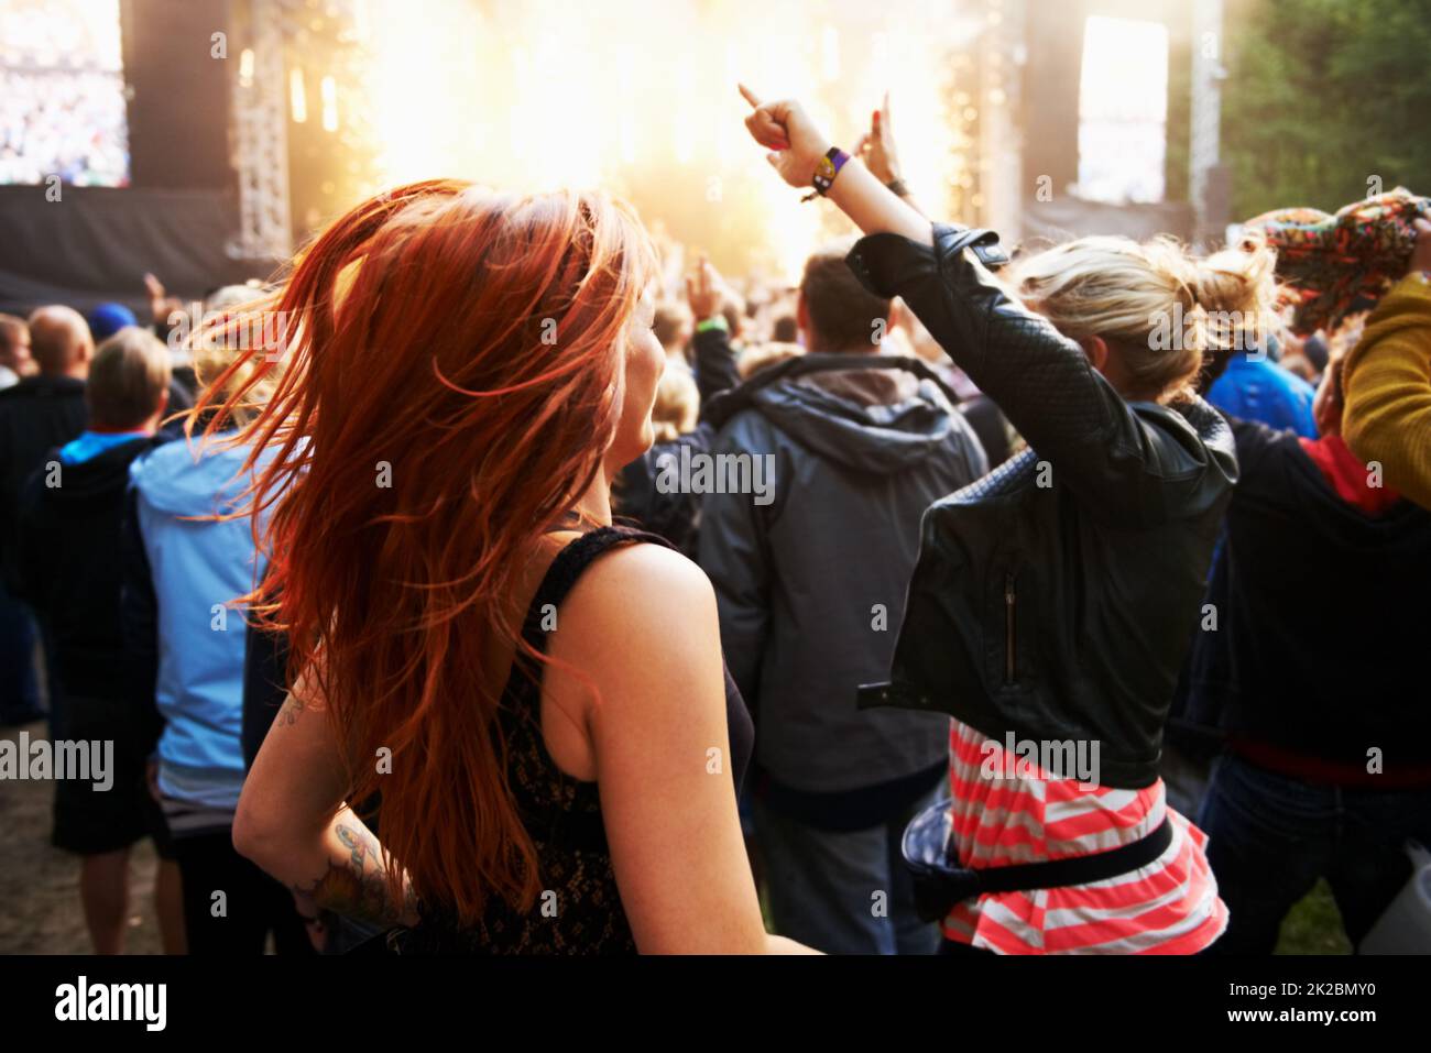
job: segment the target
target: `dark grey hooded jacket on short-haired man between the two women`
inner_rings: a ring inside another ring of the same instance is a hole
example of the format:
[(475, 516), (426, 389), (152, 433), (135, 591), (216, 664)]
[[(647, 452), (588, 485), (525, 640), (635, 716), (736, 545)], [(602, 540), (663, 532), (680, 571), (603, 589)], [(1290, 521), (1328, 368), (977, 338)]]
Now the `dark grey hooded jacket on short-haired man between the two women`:
[(987, 469), (979, 441), (920, 362), (804, 355), (714, 399), (716, 456), (770, 455), (768, 502), (705, 494), (700, 564), (721, 644), (756, 714), (760, 767), (836, 793), (947, 757), (947, 721), (860, 712), (887, 668), (919, 516)]

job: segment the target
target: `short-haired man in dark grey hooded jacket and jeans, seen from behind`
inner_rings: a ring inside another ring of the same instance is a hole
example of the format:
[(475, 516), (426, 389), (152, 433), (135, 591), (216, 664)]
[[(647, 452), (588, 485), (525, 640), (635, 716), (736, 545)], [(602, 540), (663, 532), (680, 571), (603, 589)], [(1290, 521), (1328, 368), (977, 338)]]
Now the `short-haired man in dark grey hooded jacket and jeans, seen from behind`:
[(705, 494), (700, 564), (756, 715), (776, 929), (830, 953), (932, 953), (937, 930), (914, 913), (899, 840), (943, 791), (949, 721), (860, 711), (856, 691), (887, 675), (924, 508), (987, 461), (934, 373), (880, 353), (890, 300), (860, 286), (847, 248), (806, 265), (809, 353), (707, 408), (713, 478), (734, 465), (766, 486)]

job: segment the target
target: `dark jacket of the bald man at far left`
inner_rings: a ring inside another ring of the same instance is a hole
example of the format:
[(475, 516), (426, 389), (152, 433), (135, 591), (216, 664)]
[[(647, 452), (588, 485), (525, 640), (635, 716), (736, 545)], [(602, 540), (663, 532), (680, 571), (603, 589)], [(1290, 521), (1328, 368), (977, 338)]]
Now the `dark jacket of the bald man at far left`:
[(27, 376), (0, 391), (0, 569), (13, 588), (20, 491), (44, 455), (77, 438), (86, 421), (84, 381), (73, 376)]

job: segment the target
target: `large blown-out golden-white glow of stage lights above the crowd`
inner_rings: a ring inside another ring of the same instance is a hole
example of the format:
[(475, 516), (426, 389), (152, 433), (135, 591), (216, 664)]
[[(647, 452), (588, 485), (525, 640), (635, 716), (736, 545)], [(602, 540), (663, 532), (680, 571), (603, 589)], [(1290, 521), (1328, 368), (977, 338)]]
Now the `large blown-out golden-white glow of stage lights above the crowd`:
[(894, 126), (909, 129), (906, 179), (943, 207), (942, 66), (970, 37), (959, 10), (930, 0), (877, 10), (863, 0), (368, 0), (362, 89), (376, 169), (388, 185), (448, 175), (517, 190), (602, 186), (680, 240), (738, 232), (738, 258), (701, 246), (718, 265), (794, 278), (833, 220), (797, 207), (797, 192), (766, 170), (736, 82), (798, 94), (846, 147), (892, 90)]

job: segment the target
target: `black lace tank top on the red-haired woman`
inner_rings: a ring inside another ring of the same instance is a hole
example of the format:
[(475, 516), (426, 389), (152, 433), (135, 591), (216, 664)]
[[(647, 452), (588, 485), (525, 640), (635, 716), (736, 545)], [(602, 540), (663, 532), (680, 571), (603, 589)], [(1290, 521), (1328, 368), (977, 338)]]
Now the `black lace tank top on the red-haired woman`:
[[(601, 554), (617, 545), (647, 542), (674, 548), (654, 534), (601, 526), (570, 542), (537, 588), (522, 637), (545, 654), (542, 611), (557, 609), (572, 585)], [(551, 608), (547, 605), (551, 604)], [(674, 627), (680, 631), (680, 627)], [(422, 904), (422, 921), (395, 930), (389, 947), (402, 954), (634, 954), (635, 940), (607, 848), (601, 798), (595, 783), (572, 778), (547, 753), (541, 733), (541, 665), (512, 672), (498, 710), (507, 744), (507, 775), (512, 798), (537, 847), (542, 893), (532, 908), (518, 911), (492, 896), (475, 926), (462, 929), (449, 910)], [(529, 660), (525, 660), (529, 661)], [(754, 748), (756, 731), (736, 682), (726, 672), (726, 723), (730, 770), (740, 794)], [(548, 894), (552, 893), (554, 896)]]

